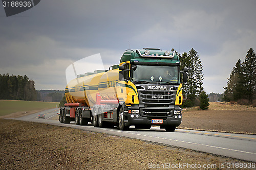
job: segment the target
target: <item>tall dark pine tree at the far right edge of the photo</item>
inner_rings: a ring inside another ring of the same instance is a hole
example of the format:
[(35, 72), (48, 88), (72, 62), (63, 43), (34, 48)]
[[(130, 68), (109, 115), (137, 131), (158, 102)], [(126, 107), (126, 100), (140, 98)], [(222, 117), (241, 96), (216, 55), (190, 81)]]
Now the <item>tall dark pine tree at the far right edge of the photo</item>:
[(252, 103), (256, 98), (256, 55), (250, 48), (243, 62), (245, 96)]

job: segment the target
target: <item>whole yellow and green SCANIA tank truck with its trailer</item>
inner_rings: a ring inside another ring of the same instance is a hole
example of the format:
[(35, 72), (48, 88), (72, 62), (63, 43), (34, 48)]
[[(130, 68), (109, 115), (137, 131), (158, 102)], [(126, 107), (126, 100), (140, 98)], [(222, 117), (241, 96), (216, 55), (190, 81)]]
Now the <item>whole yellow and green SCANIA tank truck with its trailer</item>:
[(158, 48), (126, 50), (119, 65), (87, 72), (65, 89), (67, 104), (60, 108), (60, 123), (175, 131), (181, 124), (182, 84), (176, 52)]

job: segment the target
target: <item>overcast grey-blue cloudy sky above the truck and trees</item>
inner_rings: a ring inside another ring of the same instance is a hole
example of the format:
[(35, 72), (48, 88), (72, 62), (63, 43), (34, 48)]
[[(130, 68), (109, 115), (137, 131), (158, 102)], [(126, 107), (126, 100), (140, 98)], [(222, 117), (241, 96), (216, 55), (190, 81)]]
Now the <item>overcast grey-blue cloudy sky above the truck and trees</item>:
[(222, 93), (237, 60), (256, 49), (255, 10), (254, 0), (41, 0), (9, 17), (0, 7), (0, 74), (27, 75), (37, 90), (64, 90), (66, 68), (84, 57), (100, 53), (108, 68), (128, 48), (194, 48), (204, 90)]

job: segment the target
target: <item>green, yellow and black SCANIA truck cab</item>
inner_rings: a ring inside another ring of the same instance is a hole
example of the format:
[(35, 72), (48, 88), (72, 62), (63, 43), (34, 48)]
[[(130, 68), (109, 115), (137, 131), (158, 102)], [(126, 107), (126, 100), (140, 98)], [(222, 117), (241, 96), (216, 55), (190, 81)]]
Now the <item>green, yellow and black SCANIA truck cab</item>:
[[(120, 60), (119, 81), (134, 84), (137, 95), (133, 95), (132, 102), (125, 102), (128, 120), (125, 125), (141, 128), (156, 125), (174, 131), (182, 118), (180, 72), (175, 51), (126, 50)], [(186, 80), (186, 72), (183, 76)]]

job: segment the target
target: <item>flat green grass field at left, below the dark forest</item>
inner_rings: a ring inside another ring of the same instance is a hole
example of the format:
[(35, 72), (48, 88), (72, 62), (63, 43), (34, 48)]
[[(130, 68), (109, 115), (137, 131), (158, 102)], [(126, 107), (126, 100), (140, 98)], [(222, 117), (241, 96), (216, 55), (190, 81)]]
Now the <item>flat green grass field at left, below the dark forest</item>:
[(29, 112), (42, 109), (45, 110), (58, 107), (58, 105), (58, 102), (0, 100), (0, 116), (16, 112)]

